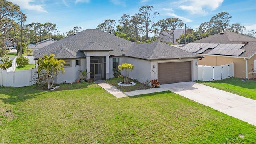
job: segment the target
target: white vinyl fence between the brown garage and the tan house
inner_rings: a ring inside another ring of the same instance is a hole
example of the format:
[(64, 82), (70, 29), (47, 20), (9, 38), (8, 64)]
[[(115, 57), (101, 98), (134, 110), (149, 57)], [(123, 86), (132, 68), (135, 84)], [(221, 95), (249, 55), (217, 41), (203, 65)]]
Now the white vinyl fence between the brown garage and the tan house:
[(198, 80), (213, 81), (223, 80), (234, 76), (234, 63), (221, 66), (198, 65)]

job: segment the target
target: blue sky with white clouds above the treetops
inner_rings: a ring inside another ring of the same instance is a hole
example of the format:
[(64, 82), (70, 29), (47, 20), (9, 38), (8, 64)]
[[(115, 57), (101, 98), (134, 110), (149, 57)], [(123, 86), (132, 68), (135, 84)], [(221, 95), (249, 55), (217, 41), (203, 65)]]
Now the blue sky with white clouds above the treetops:
[(60, 34), (75, 26), (82, 30), (96, 28), (106, 19), (118, 20), (123, 14), (138, 13), (142, 6), (153, 6), (159, 15), (152, 21), (176, 17), (196, 30), (212, 16), (228, 12), (230, 24), (240, 23), (248, 30), (256, 30), (256, 0), (8, 0), (20, 6), (26, 14), (25, 24), (51, 22)]

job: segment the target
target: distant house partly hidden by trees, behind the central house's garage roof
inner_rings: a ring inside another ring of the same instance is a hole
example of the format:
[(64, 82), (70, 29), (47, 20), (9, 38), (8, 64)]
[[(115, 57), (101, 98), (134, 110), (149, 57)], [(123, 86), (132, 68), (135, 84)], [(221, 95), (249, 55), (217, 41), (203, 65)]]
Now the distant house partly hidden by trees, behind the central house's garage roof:
[[(186, 29), (186, 34), (190, 34), (191, 31), (193, 29)], [(177, 29), (174, 30), (173, 34), (174, 34), (174, 44), (179, 44), (179, 42), (176, 42), (176, 39), (180, 38), (180, 35), (185, 33), (185, 29)], [(159, 38), (158, 41), (160, 42), (170, 42), (172, 43), (172, 32), (162, 32), (161, 34), (159, 34)]]

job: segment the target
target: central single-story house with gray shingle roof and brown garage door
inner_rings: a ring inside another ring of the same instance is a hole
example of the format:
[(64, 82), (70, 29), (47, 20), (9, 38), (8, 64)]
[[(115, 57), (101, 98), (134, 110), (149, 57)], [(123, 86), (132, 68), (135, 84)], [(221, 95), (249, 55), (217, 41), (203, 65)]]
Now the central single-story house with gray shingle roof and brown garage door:
[(91, 72), (88, 78), (112, 78), (113, 68), (127, 62), (134, 64), (130, 78), (145, 83), (158, 79), (160, 84), (198, 80), (198, 54), (162, 42), (134, 43), (98, 29), (87, 29), (34, 52), (34, 59), (55, 54), (63, 59), (65, 73), (56, 83), (75, 82), (78, 70)]

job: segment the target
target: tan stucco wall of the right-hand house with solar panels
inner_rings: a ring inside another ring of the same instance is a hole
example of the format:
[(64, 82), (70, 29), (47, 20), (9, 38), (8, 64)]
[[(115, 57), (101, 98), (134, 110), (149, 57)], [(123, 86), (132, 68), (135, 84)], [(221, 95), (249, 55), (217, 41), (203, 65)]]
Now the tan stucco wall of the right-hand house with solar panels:
[[(209, 56), (209, 55), (202, 55), (204, 58), (198, 61), (200, 65), (206, 66), (220, 66), (224, 64), (234, 63), (234, 77), (237, 78), (246, 78), (246, 60), (244, 58), (232, 58), (227, 56)], [(248, 61), (248, 65), (253, 63), (253, 60)], [(249, 68), (249, 67), (248, 67)]]

